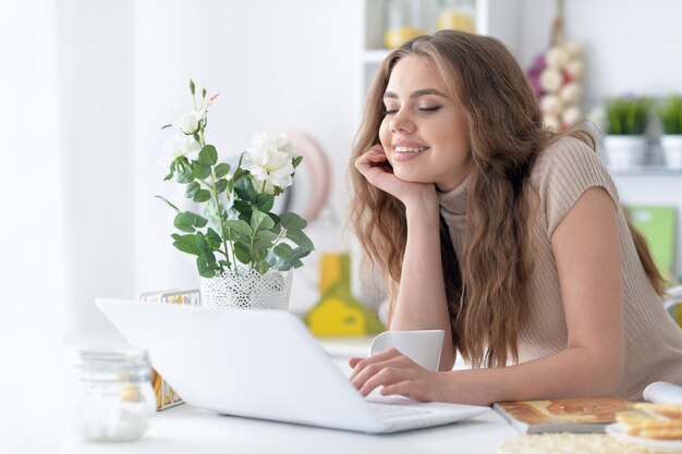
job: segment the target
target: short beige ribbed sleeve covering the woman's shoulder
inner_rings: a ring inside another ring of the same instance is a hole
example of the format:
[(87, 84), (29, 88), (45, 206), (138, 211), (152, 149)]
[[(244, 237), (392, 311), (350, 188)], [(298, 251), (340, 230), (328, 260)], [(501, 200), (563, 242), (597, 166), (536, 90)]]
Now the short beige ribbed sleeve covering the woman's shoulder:
[(540, 151), (531, 170), (531, 183), (547, 217), (548, 237), (590, 187), (605, 188), (612, 203), (619, 205), (616, 184), (599, 156), (574, 137), (562, 137)]

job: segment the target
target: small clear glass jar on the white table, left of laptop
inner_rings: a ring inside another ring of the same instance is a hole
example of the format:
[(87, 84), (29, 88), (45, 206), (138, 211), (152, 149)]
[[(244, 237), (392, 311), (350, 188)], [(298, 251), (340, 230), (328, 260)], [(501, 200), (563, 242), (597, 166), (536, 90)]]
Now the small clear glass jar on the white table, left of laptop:
[(156, 413), (151, 367), (144, 349), (82, 349), (81, 395), (73, 427), (82, 440), (139, 440)]

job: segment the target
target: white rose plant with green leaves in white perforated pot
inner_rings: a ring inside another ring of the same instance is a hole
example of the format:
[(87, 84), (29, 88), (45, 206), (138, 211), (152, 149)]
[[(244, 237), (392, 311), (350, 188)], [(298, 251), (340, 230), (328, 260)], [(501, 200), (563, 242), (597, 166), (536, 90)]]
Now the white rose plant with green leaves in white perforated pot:
[(196, 257), (202, 304), (214, 307), (287, 308), (291, 270), (314, 249), (303, 232), (300, 216), (272, 212), (275, 197), (293, 183), (302, 161), (283, 134), (256, 134), (232, 168), (220, 162), (206, 140), (208, 109), (216, 96), (203, 89), (194, 109), (172, 127), (176, 134), (166, 146), (169, 173), (185, 186), (185, 196), (199, 212), (181, 210), (157, 196), (174, 211), (173, 245)]

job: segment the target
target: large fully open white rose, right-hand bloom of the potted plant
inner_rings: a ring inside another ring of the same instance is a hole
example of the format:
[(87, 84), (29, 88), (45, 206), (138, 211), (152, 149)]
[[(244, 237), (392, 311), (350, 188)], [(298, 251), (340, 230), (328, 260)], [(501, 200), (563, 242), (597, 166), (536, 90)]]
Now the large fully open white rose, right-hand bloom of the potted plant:
[(244, 155), (244, 169), (248, 170), (260, 182), (258, 189), (272, 193), (275, 187), (288, 187), (293, 183), (291, 174), (294, 172), (293, 147), (287, 142), (284, 134), (270, 133), (254, 134), (252, 146)]

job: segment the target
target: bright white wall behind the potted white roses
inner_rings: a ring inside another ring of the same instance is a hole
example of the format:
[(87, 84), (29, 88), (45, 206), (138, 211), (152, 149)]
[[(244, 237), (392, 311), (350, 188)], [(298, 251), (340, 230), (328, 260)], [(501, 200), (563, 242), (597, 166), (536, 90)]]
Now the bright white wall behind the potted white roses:
[[(191, 108), (190, 76), (220, 93), (207, 134), (226, 158), (255, 132), (316, 138), (334, 169), (331, 207), (342, 220), (357, 4), (61, 1), (70, 343), (111, 342), (95, 296), (198, 285), (194, 261), (171, 245), (172, 213), (154, 197), (184, 198), (178, 184), (162, 182), (158, 157), (170, 135), (160, 126)], [(346, 248), (340, 223), (322, 218), (309, 230), (317, 248)], [(309, 306), (315, 257), (297, 274), (294, 298)]]

